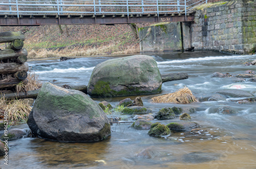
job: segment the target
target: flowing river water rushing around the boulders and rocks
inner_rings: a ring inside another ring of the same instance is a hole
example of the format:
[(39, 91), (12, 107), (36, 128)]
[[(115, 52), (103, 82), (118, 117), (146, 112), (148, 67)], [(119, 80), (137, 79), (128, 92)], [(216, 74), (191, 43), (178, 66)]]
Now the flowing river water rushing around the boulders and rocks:
[[(256, 83), (237, 78), (211, 78), (215, 71), (242, 74), (256, 70), (254, 66), (243, 66), (255, 56), (238, 56), (218, 52), (152, 54), (161, 74), (187, 73), (188, 79), (163, 83), (162, 92), (170, 93), (187, 86), (198, 98), (215, 94), (221, 89), (243, 84), (256, 96)], [(121, 57), (121, 56), (120, 56)], [(30, 66), (42, 81), (56, 85), (87, 85), (93, 68), (113, 57), (77, 58), (31, 61)], [(232, 88), (232, 87), (231, 87)], [(111, 136), (99, 142), (68, 143), (41, 138), (22, 138), (9, 141), (9, 165), (2, 168), (256, 168), (256, 103), (236, 104), (226, 101), (198, 102), (191, 104), (153, 104), (149, 100), (159, 94), (141, 95), (144, 106), (158, 112), (163, 107), (194, 107), (191, 114), (200, 124), (199, 134), (190, 131), (174, 132), (168, 137), (155, 138), (147, 130), (130, 128), (131, 124), (113, 125)], [(134, 99), (136, 96), (130, 96)], [(107, 101), (112, 106), (124, 97), (97, 98), (97, 103)], [(237, 98), (236, 98), (237, 99)], [(215, 113), (215, 108), (229, 105), (239, 110), (238, 115)], [(130, 116), (118, 115), (122, 120)], [(168, 124), (179, 120), (161, 120)], [(153, 120), (159, 122), (159, 120)], [(28, 128), (26, 124), (12, 128)], [(139, 158), (137, 154), (145, 148), (154, 149), (154, 158)]]

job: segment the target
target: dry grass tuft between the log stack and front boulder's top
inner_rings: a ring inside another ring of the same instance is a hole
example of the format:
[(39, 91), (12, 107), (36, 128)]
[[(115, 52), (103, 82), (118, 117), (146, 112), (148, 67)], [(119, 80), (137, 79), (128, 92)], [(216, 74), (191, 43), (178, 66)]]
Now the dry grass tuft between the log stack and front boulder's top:
[(20, 82), (16, 85), (17, 93), (27, 93), (27, 91), (38, 90), (42, 86), (42, 82), (38, 79), (33, 70), (28, 71), (27, 83)]

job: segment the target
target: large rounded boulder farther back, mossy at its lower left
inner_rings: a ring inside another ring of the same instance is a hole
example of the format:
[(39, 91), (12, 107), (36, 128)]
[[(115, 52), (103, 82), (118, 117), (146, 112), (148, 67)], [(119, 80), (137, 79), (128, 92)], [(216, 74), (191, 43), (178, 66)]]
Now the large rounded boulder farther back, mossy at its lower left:
[(126, 96), (159, 93), (161, 86), (155, 59), (134, 55), (98, 64), (93, 69), (87, 91), (94, 97)]

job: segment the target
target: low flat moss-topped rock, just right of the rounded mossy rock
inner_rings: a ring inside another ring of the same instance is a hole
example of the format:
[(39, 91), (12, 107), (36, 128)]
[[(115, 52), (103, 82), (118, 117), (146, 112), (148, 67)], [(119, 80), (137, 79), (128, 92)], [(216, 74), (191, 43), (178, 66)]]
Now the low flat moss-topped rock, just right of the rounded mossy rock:
[(173, 122), (169, 123), (166, 125), (170, 130), (177, 130), (177, 131), (184, 131), (188, 129), (192, 129), (195, 127), (198, 127), (199, 124), (196, 122), (186, 122), (186, 121), (181, 121), (181, 122)]

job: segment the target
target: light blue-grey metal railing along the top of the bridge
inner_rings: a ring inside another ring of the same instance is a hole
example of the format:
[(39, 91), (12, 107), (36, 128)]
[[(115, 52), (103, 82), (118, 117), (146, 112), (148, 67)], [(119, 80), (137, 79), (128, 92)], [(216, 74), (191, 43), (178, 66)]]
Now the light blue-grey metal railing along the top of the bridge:
[(0, 14), (147, 14), (187, 12), (207, 0), (2, 0)]

